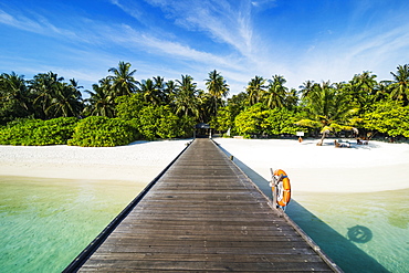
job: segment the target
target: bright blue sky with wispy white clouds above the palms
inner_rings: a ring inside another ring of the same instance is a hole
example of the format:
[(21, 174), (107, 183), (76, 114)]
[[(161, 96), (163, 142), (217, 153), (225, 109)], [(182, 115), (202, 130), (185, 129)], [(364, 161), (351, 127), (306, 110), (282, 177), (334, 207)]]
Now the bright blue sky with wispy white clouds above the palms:
[(52, 71), (85, 88), (129, 62), (137, 80), (219, 71), (231, 94), (255, 75), (390, 80), (409, 63), (407, 0), (0, 1), (0, 73)]

